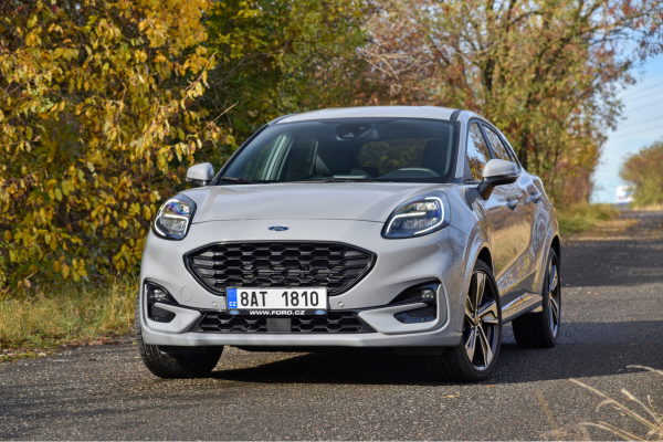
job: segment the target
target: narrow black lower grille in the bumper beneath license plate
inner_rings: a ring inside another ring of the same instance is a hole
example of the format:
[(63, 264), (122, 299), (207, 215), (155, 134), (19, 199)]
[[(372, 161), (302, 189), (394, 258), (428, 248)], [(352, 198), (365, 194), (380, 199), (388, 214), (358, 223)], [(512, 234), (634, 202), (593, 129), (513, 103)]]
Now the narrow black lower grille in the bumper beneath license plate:
[[(293, 316), (292, 333), (370, 333), (375, 332), (354, 312), (335, 312), (324, 316)], [(198, 333), (267, 333), (267, 318), (206, 313), (193, 326)]]

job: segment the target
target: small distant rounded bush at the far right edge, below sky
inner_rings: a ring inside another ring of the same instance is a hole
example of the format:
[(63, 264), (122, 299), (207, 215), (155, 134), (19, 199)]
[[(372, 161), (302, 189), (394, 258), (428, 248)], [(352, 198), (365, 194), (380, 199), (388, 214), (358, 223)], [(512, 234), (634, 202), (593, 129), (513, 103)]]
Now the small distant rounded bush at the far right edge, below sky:
[(634, 206), (663, 203), (663, 139), (627, 158), (619, 175), (635, 187)]

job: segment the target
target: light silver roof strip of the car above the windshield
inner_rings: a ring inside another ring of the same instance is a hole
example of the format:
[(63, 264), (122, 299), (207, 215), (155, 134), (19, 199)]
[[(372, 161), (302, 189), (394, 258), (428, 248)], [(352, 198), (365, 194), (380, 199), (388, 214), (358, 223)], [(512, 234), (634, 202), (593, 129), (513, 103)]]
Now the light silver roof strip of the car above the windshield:
[[(361, 106), (361, 107), (333, 107), (328, 109), (305, 112), (302, 114), (287, 115), (273, 122), (274, 124), (306, 122), (311, 119), (336, 119), (336, 118), (375, 118), (375, 117), (401, 117), (401, 118), (432, 118), (450, 120), (457, 109), (438, 106)], [(455, 119), (455, 118), (454, 118)]]

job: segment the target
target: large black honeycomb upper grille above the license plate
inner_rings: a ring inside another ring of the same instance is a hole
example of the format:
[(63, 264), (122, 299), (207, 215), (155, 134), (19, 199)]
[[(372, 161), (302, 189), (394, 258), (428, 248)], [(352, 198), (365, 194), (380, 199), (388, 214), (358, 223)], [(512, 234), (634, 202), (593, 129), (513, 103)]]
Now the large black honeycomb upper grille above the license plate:
[(211, 292), (228, 287), (327, 287), (329, 296), (356, 284), (375, 254), (339, 243), (252, 242), (210, 244), (185, 256)]

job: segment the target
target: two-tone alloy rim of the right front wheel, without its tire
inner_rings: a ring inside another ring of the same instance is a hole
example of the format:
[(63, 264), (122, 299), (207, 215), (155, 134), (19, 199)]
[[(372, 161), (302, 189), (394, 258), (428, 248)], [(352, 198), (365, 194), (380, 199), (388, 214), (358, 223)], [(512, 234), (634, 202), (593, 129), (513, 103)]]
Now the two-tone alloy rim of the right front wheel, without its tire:
[(465, 297), (463, 339), (467, 359), (476, 370), (485, 370), (499, 344), (497, 292), (483, 271), (476, 271)]

